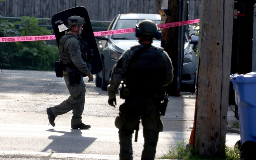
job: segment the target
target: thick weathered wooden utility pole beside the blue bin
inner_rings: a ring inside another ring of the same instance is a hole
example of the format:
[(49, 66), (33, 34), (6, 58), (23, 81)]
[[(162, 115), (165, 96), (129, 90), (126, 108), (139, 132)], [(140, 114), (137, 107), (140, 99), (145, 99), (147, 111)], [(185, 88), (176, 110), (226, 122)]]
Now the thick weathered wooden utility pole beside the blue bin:
[(201, 0), (194, 149), (224, 155), (230, 86), (233, 3)]

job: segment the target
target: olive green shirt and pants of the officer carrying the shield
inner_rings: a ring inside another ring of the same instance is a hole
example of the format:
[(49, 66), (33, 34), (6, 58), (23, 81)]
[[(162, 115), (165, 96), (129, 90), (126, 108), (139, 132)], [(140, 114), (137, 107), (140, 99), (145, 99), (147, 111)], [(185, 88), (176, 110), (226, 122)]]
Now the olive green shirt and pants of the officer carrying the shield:
[[(79, 35), (78, 35), (79, 36)], [(75, 34), (66, 32), (65, 35), (59, 40), (59, 56), (63, 64), (74, 65), (76, 68), (89, 74), (90, 69), (86, 62), (83, 61), (81, 56), (80, 43), (82, 39)], [(63, 71), (63, 77), (67, 85), (70, 97), (63, 101), (61, 104), (50, 107), (53, 115), (56, 117), (72, 110), (73, 116), (71, 119), (71, 126), (82, 123), (82, 113), (84, 110), (86, 85), (81, 75), (81, 81), (71, 85), (69, 83), (69, 72)]]

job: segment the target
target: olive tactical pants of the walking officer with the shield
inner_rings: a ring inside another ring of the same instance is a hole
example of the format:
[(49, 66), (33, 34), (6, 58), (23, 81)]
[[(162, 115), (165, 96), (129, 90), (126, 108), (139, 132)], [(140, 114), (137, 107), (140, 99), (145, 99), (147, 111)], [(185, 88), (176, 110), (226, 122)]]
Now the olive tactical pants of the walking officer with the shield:
[(70, 96), (67, 100), (63, 101), (61, 104), (51, 107), (53, 115), (59, 116), (63, 115), (72, 110), (73, 116), (71, 119), (71, 125), (78, 125), (82, 123), (82, 113), (84, 110), (85, 101), (85, 83), (81, 77), (79, 84), (69, 85), (69, 74), (63, 75), (66, 82)]

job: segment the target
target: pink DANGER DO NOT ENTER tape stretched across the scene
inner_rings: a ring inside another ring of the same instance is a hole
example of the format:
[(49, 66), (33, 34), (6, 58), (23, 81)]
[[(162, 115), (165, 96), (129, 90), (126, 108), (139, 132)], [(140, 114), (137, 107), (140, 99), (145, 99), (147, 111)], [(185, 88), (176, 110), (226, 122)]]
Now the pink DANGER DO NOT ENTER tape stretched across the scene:
[[(158, 27), (163, 29), (163, 28), (170, 28), (170, 27), (181, 26), (181, 25), (194, 24), (194, 23), (199, 23), (199, 22), (200, 22), (200, 19), (194, 19), (194, 20), (159, 24)], [(94, 34), (95, 37), (97, 37), (97, 36), (101, 36), (101, 35), (124, 34), (124, 33), (133, 33), (133, 32), (135, 32), (135, 28), (97, 31), (97, 32), (93, 32), (93, 34)], [(0, 42), (23, 42), (23, 41), (53, 40), (53, 39), (56, 39), (55, 35), (39, 35), (39, 36), (23, 36), (23, 37), (0, 37)]]

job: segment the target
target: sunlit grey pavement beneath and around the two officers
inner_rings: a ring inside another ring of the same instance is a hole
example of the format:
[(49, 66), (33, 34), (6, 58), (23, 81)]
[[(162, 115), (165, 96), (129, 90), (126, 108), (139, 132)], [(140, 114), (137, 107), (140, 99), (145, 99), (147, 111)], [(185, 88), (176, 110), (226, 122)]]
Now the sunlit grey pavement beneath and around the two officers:
[[(49, 71), (3, 70), (0, 73), (0, 159), (119, 159), (118, 129), (114, 126), (118, 107), (107, 104), (106, 91), (94, 82), (86, 82), (83, 122), (89, 130), (72, 130), (72, 112), (58, 116), (55, 127), (49, 125), (46, 108), (58, 105), (69, 93), (63, 78)], [(117, 105), (124, 100), (118, 98)], [(194, 120), (195, 95), (182, 93), (170, 97), (163, 116), (164, 131), (159, 134), (156, 158), (188, 143)], [(228, 116), (232, 117), (232, 116)], [(134, 159), (140, 159), (143, 133), (133, 142)], [(233, 146), (240, 136), (228, 134), (227, 145)]]

